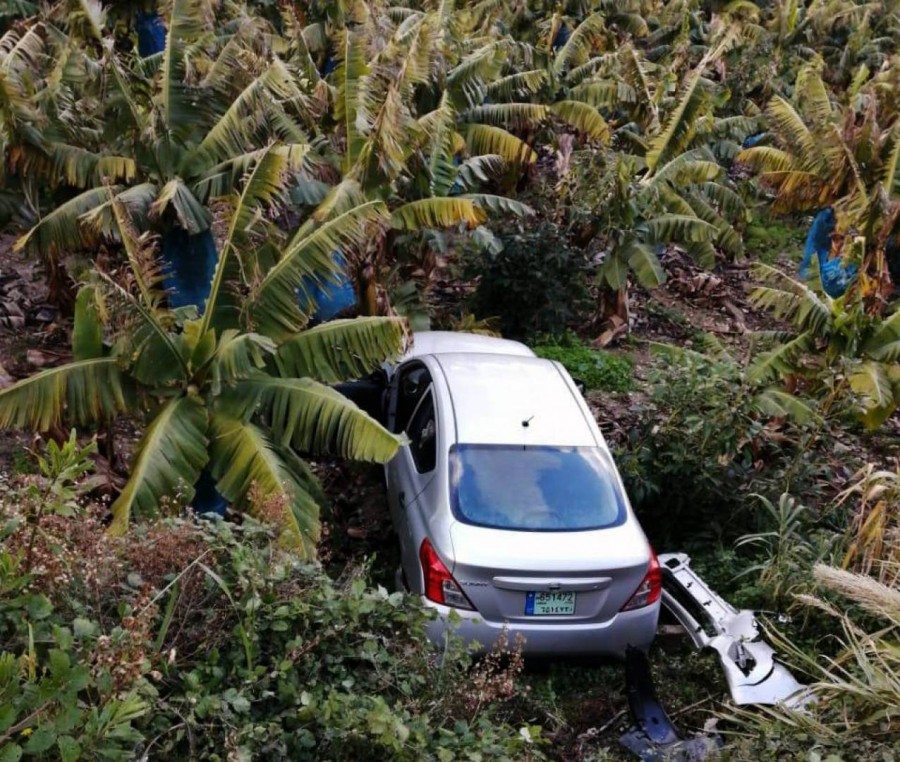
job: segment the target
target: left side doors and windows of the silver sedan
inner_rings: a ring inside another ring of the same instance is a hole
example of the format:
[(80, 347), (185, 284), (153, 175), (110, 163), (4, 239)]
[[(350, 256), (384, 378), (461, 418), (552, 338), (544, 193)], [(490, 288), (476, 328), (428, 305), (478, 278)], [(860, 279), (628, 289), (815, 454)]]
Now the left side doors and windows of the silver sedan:
[(388, 424), (404, 432), (408, 444), (400, 448), (386, 468), (388, 505), (400, 541), (407, 584), (418, 579), (418, 552), (422, 541), (421, 515), (416, 501), (434, 477), (437, 431), (431, 376), (421, 363), (404, 366), (391, 384)]

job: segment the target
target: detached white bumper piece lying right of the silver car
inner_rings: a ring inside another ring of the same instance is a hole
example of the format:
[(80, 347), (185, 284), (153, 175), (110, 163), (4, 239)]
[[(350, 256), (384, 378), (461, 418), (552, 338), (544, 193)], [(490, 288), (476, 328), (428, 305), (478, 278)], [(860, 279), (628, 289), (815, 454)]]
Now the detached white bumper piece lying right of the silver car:
[(775, 661), (775, 651), (760, 636), (752, 611), (739, 611), (713, 592), (691, 569), (687, 554), (661, 554), (659, 563), (663, 605), (698, 649), (708, 647), (719, 654), (736, 704), (799, 708), (811, 700), (807, 687)]

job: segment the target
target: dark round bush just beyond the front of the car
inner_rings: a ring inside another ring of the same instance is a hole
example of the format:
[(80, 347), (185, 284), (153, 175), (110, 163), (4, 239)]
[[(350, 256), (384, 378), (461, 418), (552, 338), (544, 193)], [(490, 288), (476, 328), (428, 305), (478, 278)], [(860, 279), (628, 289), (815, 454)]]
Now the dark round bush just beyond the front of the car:
[(586, 306), (584, 255), (550, 223), (501, 240), (501, 251), (484, 252), (470, 264), (470, 274), (479, 278), (473, 312), (497, 317), (507, 336), (562, 334)]

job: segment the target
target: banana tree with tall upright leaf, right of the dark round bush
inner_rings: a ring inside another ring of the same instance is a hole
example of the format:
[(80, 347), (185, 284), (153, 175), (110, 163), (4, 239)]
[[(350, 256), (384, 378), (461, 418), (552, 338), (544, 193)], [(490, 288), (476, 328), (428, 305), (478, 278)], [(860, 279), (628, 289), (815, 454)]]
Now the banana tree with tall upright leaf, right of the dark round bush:
[(663, 246), (684, 247), (703, 267), (715, 264), (717, 249), (732, 255), (741, 251), (731, 220), (743, 213), (743, 203), (709, 147), (729, 125), (715, 118), (715, 86), (704, 76), (735, 34), (725, 30), (688, 73), (665, 122), (651, 118), (644, 135), (628, 131), (631, 150), (610, 159), (610, 187), (595, 223), (605, 238), (598, 282), (603, 317), (612, 329), (606, 338), (627, 329), (629, 271), (645, 288), (665, 281), (658, 258)]

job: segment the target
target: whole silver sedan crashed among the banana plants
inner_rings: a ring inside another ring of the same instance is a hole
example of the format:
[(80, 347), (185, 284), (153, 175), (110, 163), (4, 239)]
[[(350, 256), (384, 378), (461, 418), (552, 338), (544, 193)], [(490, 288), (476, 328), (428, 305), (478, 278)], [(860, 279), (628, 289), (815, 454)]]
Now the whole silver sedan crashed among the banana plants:
[(648, 648), (662, 571), (568, 372), (517, 342), (424, 332), (386, 381), (383, 420), (409, 440), (385, 467), (398, 579), (437, 612), (432, 640)]

